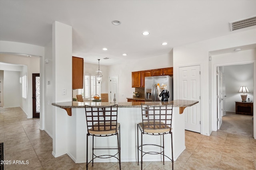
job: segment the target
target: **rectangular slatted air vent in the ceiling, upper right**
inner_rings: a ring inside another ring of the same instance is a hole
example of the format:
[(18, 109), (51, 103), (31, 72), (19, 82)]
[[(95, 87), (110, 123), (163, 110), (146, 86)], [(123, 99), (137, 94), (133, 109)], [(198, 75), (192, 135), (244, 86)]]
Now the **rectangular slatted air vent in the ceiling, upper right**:
[(237, 20), (229, 23), (230, 31), (234, 31), (236, 29), (247, 28), (256, 25), (256, 16), (252, 16), (250, 18), (245, 18), (242, 20)]

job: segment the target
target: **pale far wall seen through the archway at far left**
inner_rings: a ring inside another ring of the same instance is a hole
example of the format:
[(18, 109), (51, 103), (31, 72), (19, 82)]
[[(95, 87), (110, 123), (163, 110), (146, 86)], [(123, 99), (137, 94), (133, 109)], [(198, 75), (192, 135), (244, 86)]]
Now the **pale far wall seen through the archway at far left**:
[(19, 107), (20, 92), (20, 72), (4, 71), (4, 107)]

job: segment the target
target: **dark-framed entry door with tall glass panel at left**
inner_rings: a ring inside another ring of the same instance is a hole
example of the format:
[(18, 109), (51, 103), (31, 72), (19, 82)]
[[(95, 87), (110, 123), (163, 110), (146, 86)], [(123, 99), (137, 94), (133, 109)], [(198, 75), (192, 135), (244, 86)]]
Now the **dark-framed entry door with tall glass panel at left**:
[(32, 74), (33, 118), (40, 117), (40, 74)]

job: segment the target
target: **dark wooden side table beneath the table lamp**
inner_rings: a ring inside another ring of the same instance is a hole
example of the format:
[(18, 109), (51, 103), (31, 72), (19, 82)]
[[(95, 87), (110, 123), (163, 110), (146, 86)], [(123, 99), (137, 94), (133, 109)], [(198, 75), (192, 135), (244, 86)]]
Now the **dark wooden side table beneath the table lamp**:
[(236, 114), (253, 116), (253, 102), (236, 101)]

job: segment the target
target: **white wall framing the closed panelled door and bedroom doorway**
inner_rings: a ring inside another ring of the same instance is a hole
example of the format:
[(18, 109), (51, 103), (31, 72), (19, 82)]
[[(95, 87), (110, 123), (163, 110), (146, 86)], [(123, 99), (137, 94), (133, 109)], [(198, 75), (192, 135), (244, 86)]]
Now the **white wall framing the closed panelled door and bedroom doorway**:
[[(214, 129), (215, 120), (214, 109), (214, 86), (213, 82), (213, 65), (209, 61), (209, 52), (231, 47), (239, 47), (256, 43), (256, 29), (232, 33), (230, 35), (200, 41), (173, 49), (174, 64), (174, 99), (178, 99), (178, 69), (180, 66), (200, 65), (201, 69), (201, 133), (210, 135)], [(254, 77), (255, 79), (255, 77)], [(255, 84), (254, 84), (255, 88)], [(175, 92), (175, 90), (177, 92)], [(255, 98), (255, 94), (254, 94)], [(255, 129), (256, 130), (256, 129)]]

